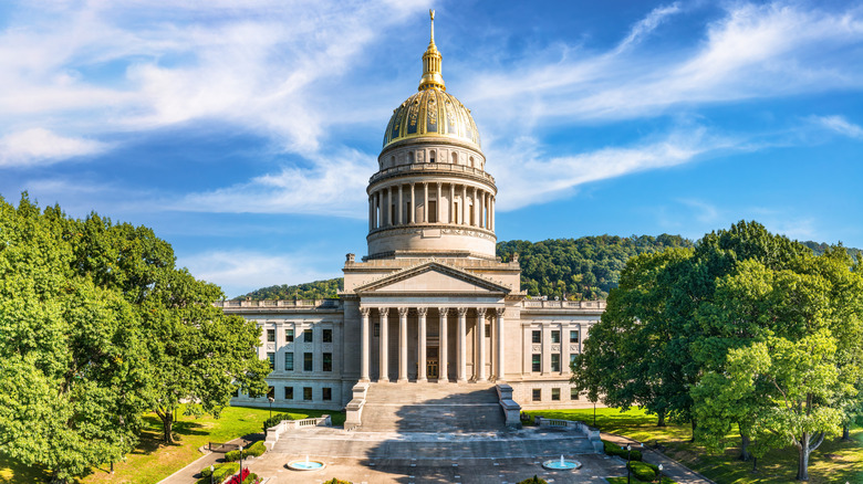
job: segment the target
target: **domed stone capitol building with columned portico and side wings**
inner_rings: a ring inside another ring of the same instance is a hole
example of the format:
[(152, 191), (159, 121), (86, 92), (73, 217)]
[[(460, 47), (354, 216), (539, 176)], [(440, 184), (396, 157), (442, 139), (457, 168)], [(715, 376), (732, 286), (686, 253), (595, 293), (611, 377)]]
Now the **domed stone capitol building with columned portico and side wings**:
[(570, 362), (605, 303), (530, 299), (518, 259), (496, 256), (495, 160), (447, 91), (432, 20), (418, 92), (393, 111), (368, 179), (367, 255), (347, 254), (343, 292), (219, 303), (262, 328), (274, 406), (347, 408), (350, 420), (381, 387), (409, 396), (429, 385), (511, 387), (523, 409), (588, 404)]

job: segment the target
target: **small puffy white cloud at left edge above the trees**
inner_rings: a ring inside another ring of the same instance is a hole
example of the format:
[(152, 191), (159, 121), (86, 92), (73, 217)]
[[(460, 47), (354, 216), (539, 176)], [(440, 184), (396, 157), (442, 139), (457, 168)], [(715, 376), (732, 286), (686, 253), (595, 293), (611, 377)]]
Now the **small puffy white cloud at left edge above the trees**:
[(103, 143), (31, 128), (0, 138), (0, 167), (51, 165), (66, 158), (93, 155), (105, 148)]

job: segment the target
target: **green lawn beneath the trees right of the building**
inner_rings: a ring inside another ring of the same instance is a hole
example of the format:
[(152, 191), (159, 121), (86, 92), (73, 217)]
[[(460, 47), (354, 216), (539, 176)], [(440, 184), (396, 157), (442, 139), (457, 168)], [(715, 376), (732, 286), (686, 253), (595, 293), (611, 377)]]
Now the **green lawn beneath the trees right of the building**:
[[(534, 410), (528, 413), (550, 419), (581, 420), (593, 423), (593, 409)], [(656, 418), (636, 408), (627, 412), (616, 409), (596, 409), (596, 427), (603, 432), (625, 435), (640, 442), (665, 445), (665, 454), (696, 470), (719, 484), (773, 484), (794, 482), (797, 475), (797, 449), (777, 449), (758, 460), (758, 471), (752, 463), (737, 460), (739, 448), (722, 454), (708, 454), (697, 443), (689, 443), (689, 424), (668, 423), (656, 427)], [(828, 438), (809, 461), (809, 484), (844, 483), (863, 484), (863, 428), (852, 429), (851, 442)]]

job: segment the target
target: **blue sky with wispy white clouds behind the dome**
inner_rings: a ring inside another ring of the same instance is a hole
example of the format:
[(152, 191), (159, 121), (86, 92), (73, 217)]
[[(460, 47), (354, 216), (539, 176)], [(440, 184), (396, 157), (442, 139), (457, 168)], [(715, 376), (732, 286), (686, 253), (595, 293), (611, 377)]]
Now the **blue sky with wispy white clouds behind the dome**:
[(0, 193), (152, 227), (228, 296), (339, 276), (429, 8), (499, 240), (863, 248), (861, 1), (3, 2)]

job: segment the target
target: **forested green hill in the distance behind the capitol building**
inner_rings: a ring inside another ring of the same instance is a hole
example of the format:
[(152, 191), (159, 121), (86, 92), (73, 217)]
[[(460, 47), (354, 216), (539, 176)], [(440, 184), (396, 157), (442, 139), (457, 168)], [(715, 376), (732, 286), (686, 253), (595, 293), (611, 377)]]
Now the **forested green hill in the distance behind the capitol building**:
[[(829, 244), (802, 242), (815, 254), (824, 252)], [(542, 242), (513, 240), (498, 243), (498, 255), (503, 261), (519, 254), (521, 288), (530, 296), (549, 296), (569, 299), (605, 298), (617, 285), (617, 277), (626, 261), (633, 255), (657, 252), (667, 248), (690, 248), (693, 241), (680, 235), (600, 235), (580, 239), (554, 239)], [(860, 259), (860, 249), (848, 249)], [(289, 286), (287, 284), (262, 287), (237, 297), (245, 299), (316, 299), (335, 297), (344, 287), (342, 277)]]

